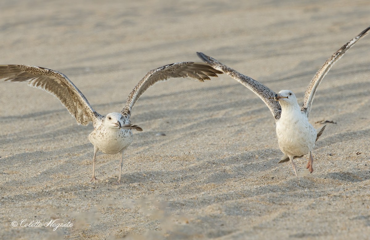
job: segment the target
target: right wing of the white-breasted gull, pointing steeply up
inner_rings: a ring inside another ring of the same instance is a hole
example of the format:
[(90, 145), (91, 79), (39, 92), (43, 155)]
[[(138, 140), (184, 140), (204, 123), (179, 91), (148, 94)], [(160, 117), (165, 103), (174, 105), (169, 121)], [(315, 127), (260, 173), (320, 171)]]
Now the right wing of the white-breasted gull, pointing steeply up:
[(327, 72), (329, 72), (330, 68), (338, 61), (343, 54), (345, 54), (358, 40), (369, 34), (370, 26), (367, 27), (364, 31), (362, 31), (359, 35), (354, 37), (351, 41), (344, 44), (343, 47), (341, 47), (336, 53), (334, 53), (322, 67), (319, 69), (319, 71), (316, 72), (315, 76), (313, 77), (312, 81), (308, 85), (306, 92), (305, 92), (305, 99), (303, 101), (303, 106), (301, 108), (302, 112), (305, 112), (307, 117), (310, 115), (311, 111), (311, 105), (313, 98), (315, 97), (315, 92), (317, 88), (320, 85), (321, 80), (325, 77)]

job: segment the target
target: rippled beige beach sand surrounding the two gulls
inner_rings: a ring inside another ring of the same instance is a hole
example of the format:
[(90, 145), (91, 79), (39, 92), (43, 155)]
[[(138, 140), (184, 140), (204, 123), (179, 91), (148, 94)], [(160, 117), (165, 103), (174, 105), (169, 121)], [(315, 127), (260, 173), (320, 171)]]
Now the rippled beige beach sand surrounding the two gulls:
[[(63, 72), (100, 114), (118, 112), (153, 68), (202, 51), (300, 105), (319, 67), (370, 24), (368, 0), (0, 2), (0, 64)], [(299, 178), (266, 105), (228, 76), (154, 85), (131, 121), (143, 132), (97, 155), (92, 124), (58, 99), (0, 82), (0, 239), (367, 239), (370, 37), (325, 77), (310, 122), (328, 124)], [(157, 136), (164, 132), (166, 136)], [(73, 227), (12, 227), (27, 219)]]

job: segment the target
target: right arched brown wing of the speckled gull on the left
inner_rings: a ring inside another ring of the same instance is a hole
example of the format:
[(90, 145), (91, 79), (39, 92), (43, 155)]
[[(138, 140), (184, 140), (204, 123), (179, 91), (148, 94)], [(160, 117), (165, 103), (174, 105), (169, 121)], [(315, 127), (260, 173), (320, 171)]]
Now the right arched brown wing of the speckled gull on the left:
[(190, 78), (204, 82), (204, 80), (211, 80), (209, 76), (217, 77), (217, 74), (222, 74), (222, 72), (213, 69), (203, 62), (177, 62), (153, 69), (139, 81), (128, 95), (126, 106), (122, 109), (121, 113), (123, 115), (131, 114), (132, 107), (141, 94), (157, 82), (167, 81), (170, 78)]

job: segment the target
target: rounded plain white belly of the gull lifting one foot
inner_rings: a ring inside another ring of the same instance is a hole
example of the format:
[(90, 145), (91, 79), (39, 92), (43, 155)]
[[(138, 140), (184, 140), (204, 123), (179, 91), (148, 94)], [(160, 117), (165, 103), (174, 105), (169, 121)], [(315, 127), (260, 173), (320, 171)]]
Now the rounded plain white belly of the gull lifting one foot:
[(283, 153), (288, 156), (301, 156), (314, 148), (317, 132), (302, 114), (280, 118), (276, 122), (276, 135)]

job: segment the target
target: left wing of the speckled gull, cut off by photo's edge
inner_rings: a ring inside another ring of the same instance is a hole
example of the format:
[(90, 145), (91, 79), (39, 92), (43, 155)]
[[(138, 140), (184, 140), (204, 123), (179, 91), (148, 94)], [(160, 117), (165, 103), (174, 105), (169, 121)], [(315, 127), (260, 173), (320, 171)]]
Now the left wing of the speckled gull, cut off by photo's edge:
[(0, 80), (27, 82), (57, 97), (80, 125), (101, 116), (90, 106), (80, 90), (61, 72), (29, 65), (0, 65)]

